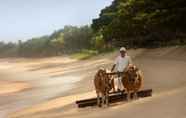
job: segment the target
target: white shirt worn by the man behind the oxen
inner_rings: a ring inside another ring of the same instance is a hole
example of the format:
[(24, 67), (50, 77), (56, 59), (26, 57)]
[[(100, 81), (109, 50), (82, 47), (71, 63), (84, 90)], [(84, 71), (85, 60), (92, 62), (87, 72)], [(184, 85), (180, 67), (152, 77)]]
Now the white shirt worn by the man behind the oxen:
[(120, 55), (116, 58), (114, 64), (116, 64), (116, 71), (123, 72), (129, 64), (132, 64), (132, 60), (130, 56), (121, 57)]

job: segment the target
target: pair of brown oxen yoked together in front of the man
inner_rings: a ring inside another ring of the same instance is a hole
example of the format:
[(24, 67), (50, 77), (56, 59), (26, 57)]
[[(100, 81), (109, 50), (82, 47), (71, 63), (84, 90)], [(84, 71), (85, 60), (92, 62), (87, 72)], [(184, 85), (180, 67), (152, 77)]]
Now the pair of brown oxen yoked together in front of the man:
[[(131, 92), (134, 92), (134, 98), (136, 99), (137, 92), (139, 91), (143, 83), (141, 70), (139, 70), (135, 65), (129, 65), (123, 73), (118, 74), (121, 75), (123, 87), (126, 89), (127, 100), (130, 100)], [(95, 75), (94, 85), (97, 94), (97, 105), (99, 107), (103, 105), (108, 106), (109, 92), (112, 89), (115, 90), (114, 78), (107, 73), (106, 69), (101, 68)]]

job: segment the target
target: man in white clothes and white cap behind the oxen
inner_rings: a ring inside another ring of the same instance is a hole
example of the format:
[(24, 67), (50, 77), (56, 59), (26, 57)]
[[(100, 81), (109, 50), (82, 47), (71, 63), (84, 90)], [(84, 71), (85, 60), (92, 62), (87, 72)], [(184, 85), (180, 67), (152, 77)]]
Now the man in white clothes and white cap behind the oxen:
[[(129, 66), (129, 64), (132, 64), (132, 60), (130, 56), (127, 55), (126, 53), (126, 48), (121, 47), (120, 48), (120, 55), (116, 58), (115, 63), (111, 69), (113, 72), (114, 70), (116, 72), (124, 72), (126, 68)], [(122, 82), (121, 82), (121, 75), (118, 74), (118, 80), (115, 81), (115, 84), (117, 85), (117, 90), (121, 91), (124, 89)]]

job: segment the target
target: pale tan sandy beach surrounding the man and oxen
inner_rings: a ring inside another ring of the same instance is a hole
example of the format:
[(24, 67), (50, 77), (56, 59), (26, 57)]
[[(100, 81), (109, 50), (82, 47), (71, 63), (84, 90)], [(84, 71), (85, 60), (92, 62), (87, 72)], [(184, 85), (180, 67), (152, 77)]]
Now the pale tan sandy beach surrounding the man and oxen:
[[(111, 68), (118, 52), (88, 60), (68, 57), (0, 59), (2, 118), (185, 118), (186, 47), (129, 50), (144, 73), (153, 96), (111, 104), (108, 108), (77, 108), (75, 101), (95, 96), (96, 70)], [(6, 91), (5, 91), (6, 90)]]

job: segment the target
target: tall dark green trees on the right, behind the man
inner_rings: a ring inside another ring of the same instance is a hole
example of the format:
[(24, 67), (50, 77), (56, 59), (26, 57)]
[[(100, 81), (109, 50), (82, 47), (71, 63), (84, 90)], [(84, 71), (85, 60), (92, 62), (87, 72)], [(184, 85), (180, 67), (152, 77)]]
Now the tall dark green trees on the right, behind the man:
[(186, 43), (185, 0), (114, 0), (93, 20), (106, 43), (160, 47)]

